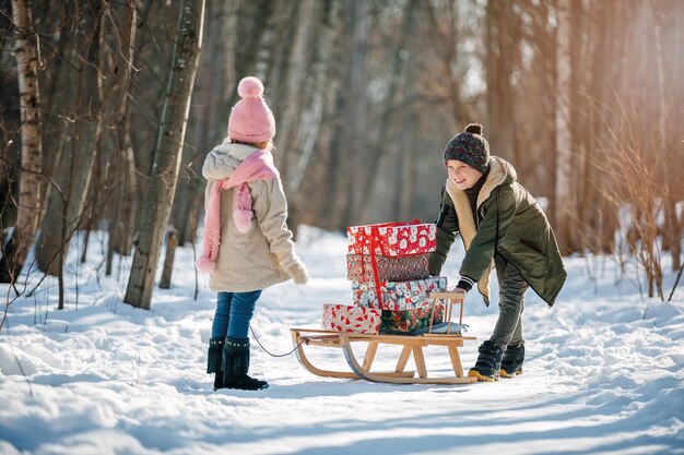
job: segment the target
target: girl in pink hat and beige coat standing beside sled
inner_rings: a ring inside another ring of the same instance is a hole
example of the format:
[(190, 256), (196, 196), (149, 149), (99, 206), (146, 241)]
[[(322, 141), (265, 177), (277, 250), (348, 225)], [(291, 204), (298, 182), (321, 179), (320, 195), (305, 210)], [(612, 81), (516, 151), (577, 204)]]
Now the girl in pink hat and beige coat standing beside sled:
[(249, 322), (261, 291), (308, 272), (294, 251), (287, 228), (287, 202), (273, 165), (275, 120), (257, 77), (245, 77), (231, 111), (228, 137), (209, 153), (203, 253), (200, 272), (219, 292), (209, 340), (208, 373), (214, 390), (256, 391), (269, 384), (247, 375)]

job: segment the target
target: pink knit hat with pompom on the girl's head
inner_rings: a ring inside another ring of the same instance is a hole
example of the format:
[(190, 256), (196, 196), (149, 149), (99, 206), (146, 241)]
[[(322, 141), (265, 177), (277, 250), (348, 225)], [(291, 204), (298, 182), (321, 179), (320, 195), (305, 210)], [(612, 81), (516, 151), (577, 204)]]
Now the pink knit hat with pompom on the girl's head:
[(231, 111), (228, 137), (234, 141), (258, 143), (275, 135), (275, 119), (263, 100), (263, 84), (255, 76), (240, 81), (237, 94), (243, 98)]

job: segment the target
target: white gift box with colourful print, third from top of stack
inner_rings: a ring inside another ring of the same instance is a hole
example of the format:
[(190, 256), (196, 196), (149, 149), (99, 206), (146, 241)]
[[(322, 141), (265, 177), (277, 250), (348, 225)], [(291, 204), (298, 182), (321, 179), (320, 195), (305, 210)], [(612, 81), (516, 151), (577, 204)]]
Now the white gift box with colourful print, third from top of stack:
[[(378, 289), (381, 299), (378, 299)], [(405, 282), (352, 282), (354, 303), (359, 307), (377, 308), (380, 310), (403, 311), (415, 308), (425, 302), (429, 292), (447, 290), (447, 278), (431, 276), (425, 279), (410, 279)]]

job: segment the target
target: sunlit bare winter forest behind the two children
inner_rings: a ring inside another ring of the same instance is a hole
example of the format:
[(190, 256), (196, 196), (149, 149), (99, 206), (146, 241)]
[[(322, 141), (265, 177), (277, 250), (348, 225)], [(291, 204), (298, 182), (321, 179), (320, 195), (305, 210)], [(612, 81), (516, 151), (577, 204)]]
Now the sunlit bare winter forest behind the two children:
[(660, 248), (682, 263), (681, 1), (7, 0), (0, 21), (4, 283), (59, 276), (74, 234), (105, 230), (106, 273), (135, 244), (149, 306), (249, 74), (295, 231), (434, 219), (444, 144), (477, 121), (564, 254), (636, 256), (661, 297)]

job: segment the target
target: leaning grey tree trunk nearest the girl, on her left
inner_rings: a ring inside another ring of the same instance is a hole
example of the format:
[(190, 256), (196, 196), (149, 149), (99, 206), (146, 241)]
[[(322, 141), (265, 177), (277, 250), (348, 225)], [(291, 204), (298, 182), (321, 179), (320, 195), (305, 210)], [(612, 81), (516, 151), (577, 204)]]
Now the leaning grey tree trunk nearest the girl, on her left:
[(138, 226), (138, 242), (123, 301), (150, 309), (162, 241), (170, 215), (194, 74), (202, 44), (204, 0), (184, 0), (157, 134), (150, 194)]

